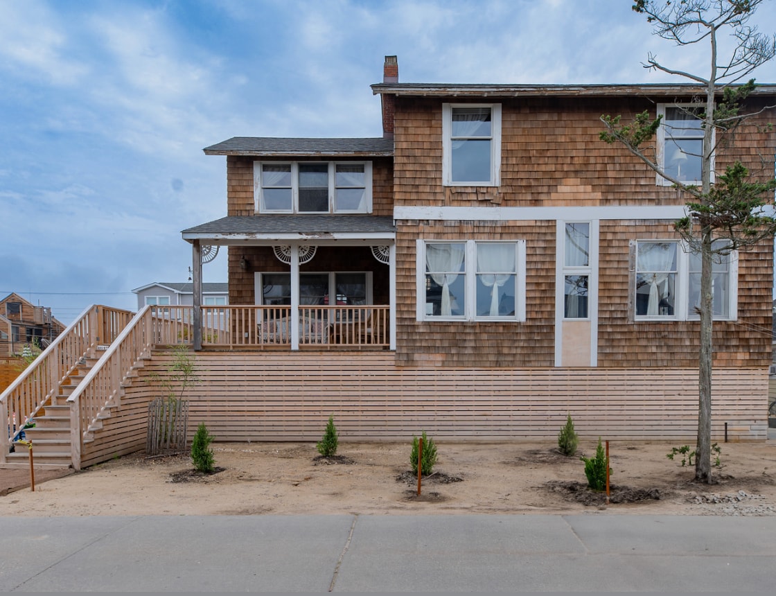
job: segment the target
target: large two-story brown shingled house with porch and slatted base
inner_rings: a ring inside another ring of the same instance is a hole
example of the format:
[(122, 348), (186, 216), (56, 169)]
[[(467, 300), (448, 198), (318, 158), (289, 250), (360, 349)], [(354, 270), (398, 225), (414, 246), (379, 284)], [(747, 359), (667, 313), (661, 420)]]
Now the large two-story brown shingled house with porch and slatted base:
[[(684, 196), (598, 134), (601, 114), (662, 114), (661, 163), (698, 181), (702, 131), (684, 106), (703, 89), (404, 84), (386, 57), (372, 92), (383, 137), (204, 150), (226, 157), (226, 216), (182, 237), (194, 255), (229, 248), (230, 349), (262, 349), (250, 363), (201, 352), (232, 379), (211, 396), (240, 387), (230, 436), (311, 437), (332, 412), (363, 437), (552, 438), (567, 412), (591, 435), (695, 435)], [(774, 100), (776, 85), (747, 99), (762, 126), (717, 147), (718, 172), (740, 159), (773, 174)], [(772, 270), (767, 242), (715, 265), (715, 437), (765, 438)], [(267, 404), (287, 409), (277, 427)]]

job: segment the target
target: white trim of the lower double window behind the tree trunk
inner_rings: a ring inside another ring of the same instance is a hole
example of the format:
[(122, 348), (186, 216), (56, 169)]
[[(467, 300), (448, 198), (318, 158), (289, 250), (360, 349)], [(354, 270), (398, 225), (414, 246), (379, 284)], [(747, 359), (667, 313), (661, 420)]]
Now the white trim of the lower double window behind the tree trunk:
[[(648, 315), (648, 314), (636, 314), (636, 276), (639, 274), (638, 269), (638, 250), (639, 242), (673, 242), (677, 244), (677, 281), (676, 281), (676, 300), (674, 300), (674, 314), (673, 315)], [(729, 255), (728, 262), (728, 276), (730, 285), (730, 296), (728, 303), (728, 316), (718, 317), (714, 316), (714, 321), (736, 321), (738, 319), (738, 252), (733, 251)], [(699, 314), (691, 312), (690, 305), (688, 304), (688, 293), (690, 291), (690, 253), (688, 251), (687, 244), (675, 239), (666, 238), (640, 238), (636, 241), (636, 265), (633, 268), (633, 275), (631, 279), (633, 284), (633, 321), (637, 323), (671, 323), (674, 321), (698, 321), (701, 317)]]

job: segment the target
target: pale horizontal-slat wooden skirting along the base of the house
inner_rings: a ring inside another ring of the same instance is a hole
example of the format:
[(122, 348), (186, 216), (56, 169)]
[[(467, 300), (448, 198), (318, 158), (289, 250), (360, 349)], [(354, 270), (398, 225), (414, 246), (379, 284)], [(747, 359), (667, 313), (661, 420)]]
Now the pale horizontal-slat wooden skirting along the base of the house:
[[(164, 376), (168, 359), (154, 352), (142, 376)], [(388, 352), (202, 352), (196, 364), (203, 382), (186, 391), (189, 438), (205, 422), (217, 441), (317, 441), (330, 414), (342, 441), (422, 430), (435, 439), (555, 441), (568, 413), (584, 438), (691, 441), (697, 432), (697, 369), (400, 367)], [(725, 423), (729, 440), (766, 438), (767, 381), (763, 370), (715, 370), (715, 441)], [(150, 386), (133, 383), (122, 398), (125, 436), (138, 445), (145, 422), (130, 420), (144, 417)]]

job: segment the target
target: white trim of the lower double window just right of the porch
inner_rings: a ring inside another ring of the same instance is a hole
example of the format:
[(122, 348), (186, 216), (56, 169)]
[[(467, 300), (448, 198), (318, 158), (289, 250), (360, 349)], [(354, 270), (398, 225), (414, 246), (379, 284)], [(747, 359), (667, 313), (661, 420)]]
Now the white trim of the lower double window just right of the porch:
[[(415, 251), (416, 263), (415, 271), (417, 277), (416, 283), (416, 295), (417, 295), (417, 308), (416, 318), (417, 321), (476, 321), (478, 323), (504, 323), (525, 321), (525, 240), (420, 240), (416, 242)], [(454, 317), (442, 317), (441, 315), (429, 315), (426, 314), (426, 244), (465, 244), (465, 271), (462, 275), (465, 275), (464, 287), (465, 287), (465, 301), (466, 308), (464, 314)], [(514, 289), (514, 315), (508, 317), (477, 317), (476, 315), (476, 244), (513, 244), (515, 247), (515, 263), (516, 268), (516, 287)]]

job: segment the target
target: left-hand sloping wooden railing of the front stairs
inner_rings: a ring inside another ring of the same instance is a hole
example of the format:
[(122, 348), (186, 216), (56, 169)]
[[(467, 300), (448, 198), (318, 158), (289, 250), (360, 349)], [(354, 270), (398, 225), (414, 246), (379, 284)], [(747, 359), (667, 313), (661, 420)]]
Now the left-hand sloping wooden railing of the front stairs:
[(47, 403), (57, 405), (61, 383), (71, 375), (81, 359), (95, 358), (98, 346), (112, 341), (132, 313), (92, 305), (84, 310), (0, 395), (0, 462), (5, 461), (13, 439), (29, 418)]

